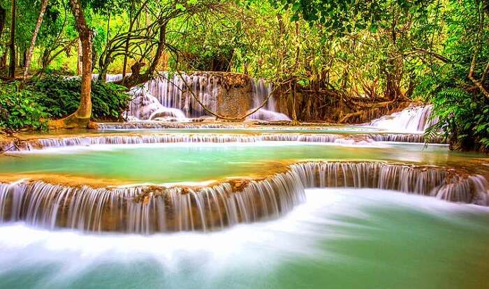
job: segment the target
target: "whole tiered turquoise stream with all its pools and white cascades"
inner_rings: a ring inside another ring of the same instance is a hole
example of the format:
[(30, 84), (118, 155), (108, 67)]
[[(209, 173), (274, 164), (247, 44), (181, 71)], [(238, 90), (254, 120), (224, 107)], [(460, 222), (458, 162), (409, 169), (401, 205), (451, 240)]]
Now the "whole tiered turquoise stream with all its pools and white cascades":
[[(143, 119), (200, 115), (152, 87)], [(489, 159), (413, 143), (430, 113), (23, 135), (0, 156), (0, 288), (486, 288)]]

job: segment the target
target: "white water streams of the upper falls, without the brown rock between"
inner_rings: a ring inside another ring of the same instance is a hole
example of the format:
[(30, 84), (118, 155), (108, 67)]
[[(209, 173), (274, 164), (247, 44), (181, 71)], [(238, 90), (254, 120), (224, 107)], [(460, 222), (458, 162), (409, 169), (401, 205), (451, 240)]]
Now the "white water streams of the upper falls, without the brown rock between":
[[(182, 79), (183, 77), (183, 79)], [(170, 74), (161, 72), (144, 87), (131, 89), (133, 95), (127, 117), (130, 120), (186, 120), (187, 118), (205, 117), (207, 113), (189, 93), (189, 88), (196, 97), (213, 112), (218, 110), (219, 77), (203, 74)], [(107, 81), (117, 81), (122, 75), (107, 75)], [(257, 108), (272, 92), (271, 84), (264, 80), (251, 80), (251, 108)], [(252, 114), (250, 119), (265, 121), (288, 121), (285, 114), (276, 112), (275, 98), (270, 96), (265, 108)], [(157, 119), (157, 118), (160, 119)], [(165, 119), (165, 117), (170, 117)]]

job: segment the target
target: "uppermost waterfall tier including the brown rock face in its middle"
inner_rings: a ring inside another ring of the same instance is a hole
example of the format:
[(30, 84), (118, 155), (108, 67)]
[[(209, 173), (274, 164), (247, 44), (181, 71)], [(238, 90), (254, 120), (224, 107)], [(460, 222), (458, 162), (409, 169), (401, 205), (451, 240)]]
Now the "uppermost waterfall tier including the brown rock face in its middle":
[[(239, 76), (239, 77), (238, 77)], [(207, 110), (226, 117), (239, 117), (261, 106), (250, 119), (265, 121), (290, 120), (277, 112), (272, 85), (244, 75), (226, 77), (221, 73), (191, 75), (161, 72), (144, 87), (131, 89), (134, 95), (128, 117), (139, 120), (185, 120), (210, 116)], [(120, 80), (122, 75), (107, 75), (107, 81)], [(269, 97), (270, 96), (270, 97)], [(200, 103), (198, 103), (198, 101)]]

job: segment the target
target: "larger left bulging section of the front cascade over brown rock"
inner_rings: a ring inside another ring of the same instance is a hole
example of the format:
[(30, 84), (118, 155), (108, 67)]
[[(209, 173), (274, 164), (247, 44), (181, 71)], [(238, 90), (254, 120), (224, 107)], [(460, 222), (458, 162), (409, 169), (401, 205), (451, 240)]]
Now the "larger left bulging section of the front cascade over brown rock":
[(2, 221), (93, 232), (218, 230), (276, 218), (303, 201), (304, 189), (293, 172), (249, 181), (239, 191), (230, 183), (196, 190), (73, 188), (42, 181), (0, 185)]

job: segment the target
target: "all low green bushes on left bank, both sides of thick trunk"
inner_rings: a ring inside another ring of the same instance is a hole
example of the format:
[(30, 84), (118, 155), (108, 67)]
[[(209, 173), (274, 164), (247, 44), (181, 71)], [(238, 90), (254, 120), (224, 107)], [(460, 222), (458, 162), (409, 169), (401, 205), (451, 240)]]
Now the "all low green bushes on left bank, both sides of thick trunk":
[[(92, 118), (114, 121), (122, 118), (131, 96), (117, 84), (92, 82)], [(31, 80), (20, 89), (19, 82), (0, 82), (0, 129), (47, 128), (48, 119), (66, 117), (80, 103), (80, 80), (50, 75)]]

